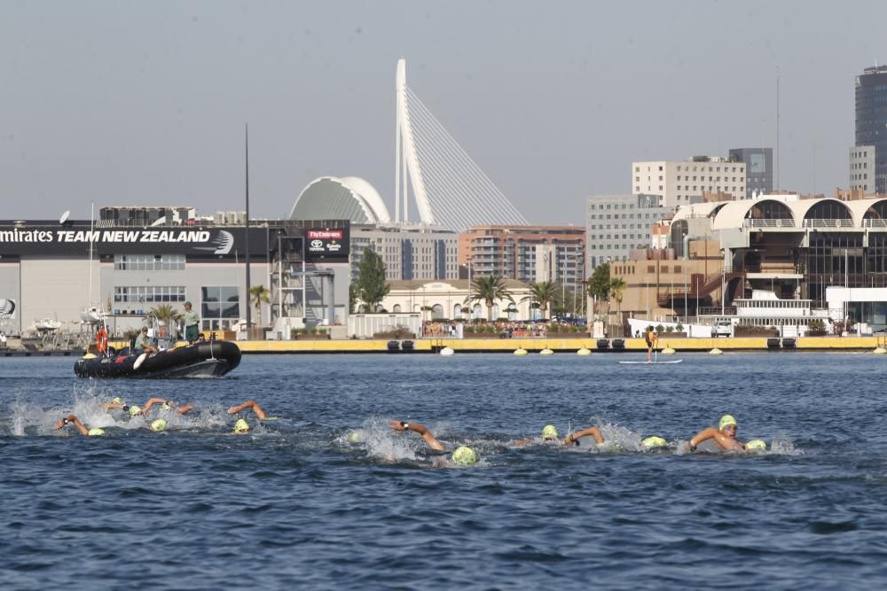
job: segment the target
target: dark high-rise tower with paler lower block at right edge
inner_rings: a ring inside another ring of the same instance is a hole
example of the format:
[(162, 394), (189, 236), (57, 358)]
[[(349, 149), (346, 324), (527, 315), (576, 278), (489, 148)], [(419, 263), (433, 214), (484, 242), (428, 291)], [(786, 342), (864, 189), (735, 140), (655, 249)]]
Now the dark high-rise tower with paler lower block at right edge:
[[(875, 170), (862, 171), (869, 179), (874, 176), (875, 192), (887, 193), (887, 66), (867, 67), (856, 77), (856, 139), (857, 148), (870, 147), (874, 152)], [(851, 150), (851, 165), (853, 161)], [(854, 169), (851, 166), (852, 184)], [(863, 179), (865, 181), (866, 179)]]

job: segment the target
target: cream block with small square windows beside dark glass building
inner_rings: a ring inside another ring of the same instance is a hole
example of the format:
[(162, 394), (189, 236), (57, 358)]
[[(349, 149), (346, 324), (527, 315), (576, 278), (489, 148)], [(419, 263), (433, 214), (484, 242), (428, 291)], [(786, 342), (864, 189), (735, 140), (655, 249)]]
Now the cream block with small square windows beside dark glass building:
[(658, 195), (665, 207), (699, 203), (703, 192), (744, 199), (745, 170), (745, 162), (717, 156), (632, 162), (632, 195)]

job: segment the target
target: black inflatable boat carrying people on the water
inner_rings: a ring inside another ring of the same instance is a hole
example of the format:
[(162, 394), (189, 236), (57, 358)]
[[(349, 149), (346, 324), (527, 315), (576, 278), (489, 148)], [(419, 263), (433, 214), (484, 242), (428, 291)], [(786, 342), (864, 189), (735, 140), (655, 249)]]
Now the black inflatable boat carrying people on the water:
[(219, 377), (240, 363), (240, 349), (227, 340), (209, 340), (152, 354), (86, 354), (74, 364), (79, 377)]

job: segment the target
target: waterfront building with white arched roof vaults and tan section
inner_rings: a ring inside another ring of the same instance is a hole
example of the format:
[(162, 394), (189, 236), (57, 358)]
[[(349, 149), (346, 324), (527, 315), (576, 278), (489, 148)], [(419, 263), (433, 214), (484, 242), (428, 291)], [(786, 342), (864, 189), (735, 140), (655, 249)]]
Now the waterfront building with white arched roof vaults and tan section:
[(680, 206), (669, 247), (671, 259), (613, 264), (611, 276), (628, 285), (623, 320), (714, 322), (767, 292), (803, 303), (787, 308), (887, 329), (887, 198), (779, 194)]

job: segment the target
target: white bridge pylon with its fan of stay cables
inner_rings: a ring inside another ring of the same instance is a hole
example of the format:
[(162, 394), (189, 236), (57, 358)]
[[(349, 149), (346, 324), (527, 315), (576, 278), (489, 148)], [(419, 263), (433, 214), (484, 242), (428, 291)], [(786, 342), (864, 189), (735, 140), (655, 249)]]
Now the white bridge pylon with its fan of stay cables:
[(529, 225), (498, 187), (406, 85), (397, 60), (395, 221), (409, 222), (409, 190), (421, 222), (452, 231), (469, 226)]

